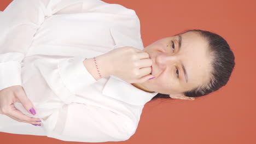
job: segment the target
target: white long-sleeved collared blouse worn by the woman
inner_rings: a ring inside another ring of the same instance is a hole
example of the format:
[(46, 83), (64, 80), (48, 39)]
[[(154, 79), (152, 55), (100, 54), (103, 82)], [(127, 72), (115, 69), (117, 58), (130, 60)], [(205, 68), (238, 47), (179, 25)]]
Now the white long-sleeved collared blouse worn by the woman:
[[(132, 9), (100, 0), (14, 0), (0, 13), (0, 90), (21, 85), (42, 126), (0, 115), (0, 131), (63, 141), (129, 139), (156, 94), (114, 75), (95, 80), (84, 67), (123, 46), (143, 50)], [(117, 59), (118, 61), (118, 59)]]

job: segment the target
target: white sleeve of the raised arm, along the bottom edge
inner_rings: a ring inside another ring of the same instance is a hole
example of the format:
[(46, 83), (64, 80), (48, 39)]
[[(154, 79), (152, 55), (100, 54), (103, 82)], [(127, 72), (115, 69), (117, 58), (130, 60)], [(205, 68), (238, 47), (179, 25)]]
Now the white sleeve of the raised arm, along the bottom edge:
[(135, 134), (142, 108), (133, 108), (135, 113), (116, 113), (89, 104), (64, 105), (55, 129), (47, 136), (77, 142), (125, 141)]

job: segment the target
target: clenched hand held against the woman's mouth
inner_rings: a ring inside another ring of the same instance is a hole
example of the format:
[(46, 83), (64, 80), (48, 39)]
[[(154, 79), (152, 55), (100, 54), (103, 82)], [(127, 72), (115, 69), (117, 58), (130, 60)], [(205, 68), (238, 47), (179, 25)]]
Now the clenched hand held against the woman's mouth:
[[(149, 54), (135, 47), (125, 46), (100, 56), (112, 75), (129, 83), (143, 83), (153, 77)], [(105, 66), (104, 69), (107, 69)]]

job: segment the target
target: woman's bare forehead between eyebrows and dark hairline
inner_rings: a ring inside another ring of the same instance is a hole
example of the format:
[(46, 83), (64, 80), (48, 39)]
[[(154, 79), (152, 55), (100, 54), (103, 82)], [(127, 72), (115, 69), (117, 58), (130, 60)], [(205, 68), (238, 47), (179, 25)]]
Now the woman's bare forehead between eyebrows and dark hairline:
[[(175, 36), (178, 39), (178, 35)], [(211, 72), (211, 57), (207, 40), (197, 32), (182, 34), (179, 56), (188, 74), (187, 89), (195, 88), (208, 82)]]

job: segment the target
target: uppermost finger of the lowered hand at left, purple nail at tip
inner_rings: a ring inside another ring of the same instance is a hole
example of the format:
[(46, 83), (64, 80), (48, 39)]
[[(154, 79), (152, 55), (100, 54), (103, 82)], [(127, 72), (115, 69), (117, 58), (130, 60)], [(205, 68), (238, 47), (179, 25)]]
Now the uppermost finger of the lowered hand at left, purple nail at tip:
[[(22, 89), (24, 89), (22, 87)], [(19, 92), (16, 97), (19, 99), (20, 103), (25, 107), (25, 109), (30, 112), (32, 115), (36, 115), (36, 110), (34, 108), (34, 105), (30, 101), (30, 99), (27, 98), (27, 95), (25, 91)]]

